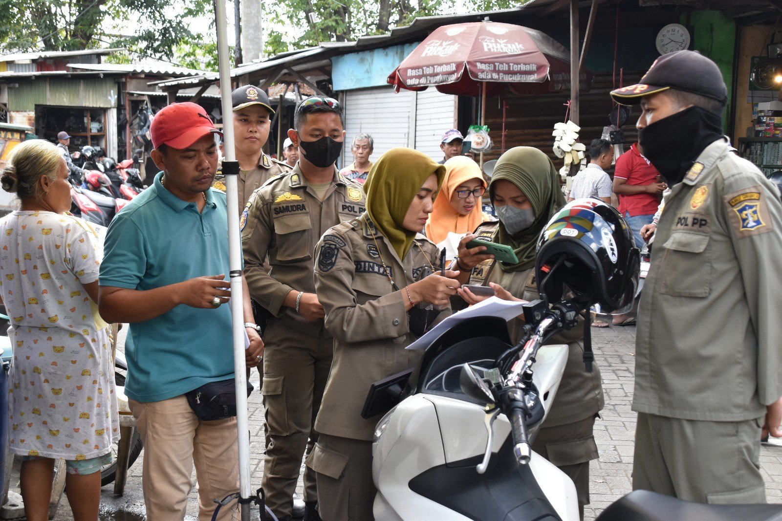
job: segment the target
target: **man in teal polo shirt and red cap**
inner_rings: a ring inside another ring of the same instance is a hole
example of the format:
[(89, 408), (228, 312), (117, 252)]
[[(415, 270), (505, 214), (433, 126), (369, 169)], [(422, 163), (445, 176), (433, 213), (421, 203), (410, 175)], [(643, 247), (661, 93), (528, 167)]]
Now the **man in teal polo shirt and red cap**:
[[(99, 309), (130, 322), (125, 393), (144, 442), (143, 488), (149, 519), (183, 519), (195, 462), (199, 519), (239, 489), (236, 419), (203, 422), (185, 393), (232, 379), (226, 196), (210, 189), (218, 133), (195, 103), (160, 110), (150, 128), (152, 160), (163, 172), (109, 226)], [(246, 282), (246, 364), (261, 360)], [(219, 519), (234, 519), (236, 508)]]

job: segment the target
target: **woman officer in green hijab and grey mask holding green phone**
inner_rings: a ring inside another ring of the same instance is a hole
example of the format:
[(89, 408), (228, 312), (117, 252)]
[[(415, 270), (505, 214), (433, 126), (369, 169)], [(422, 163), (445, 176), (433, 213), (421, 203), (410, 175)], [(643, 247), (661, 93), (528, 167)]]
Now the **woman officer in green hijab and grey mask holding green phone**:
[[(489, 188), (500, 221), (485, 222), (475, 229), (475, 235), (462, 239), (457, 257), (458, 269), (465, 274), (463, 276), (470, 274), (470, 285), (489, 286), (493, 282), (502, 286), (512, 297), (536, 300), (540, 298), (534, 273), (537, 238), (551, 214), (565, 203), (565, 197), (559, 189), (558, 174), (551, 160), (540, 150), (526, 146), (515, 147), (497, 161)], [(530, 208), (519, 210), (517, 205)], [(508, 212), (507, 207), (514, 209)], [(531, 211), (534, 218), (528, 219), (524, 225), (518, 225), (516, 231), (514, 223), (508, 219), (512, 219), (513, 214), (522, 215), (520, 212), (524, 211)], [(518, 267), (500, 263), (493, 258), (487, 259), (479, 252), (471, 255), (469, 252), (475, 249), (466, 250), (465, 244), (473, 236), (475, 239), (514, 247), (519, 259)], [(475, 264), (479, 259), (484, 260)], [(472, 272), (468, 268), (472, 268)], [(464, 296), (464, 293), (460, 293)], [(460, 304), (465, 305), (463, 301)], [(454, 307), (457, 306), (454, 303)], [(521, 338), (523, 325), (520, 318), (508, 322), (508, 331), (514, 342)], [(593, 363), (591, 372), (587, 372), (584, 365), (583, 322), (552, 337), (549, 343), (568, 344), (569, 355), (551, 411), (533, 440), (533, 450), (557, 465), (576, 484), (579, 510), (583, 517), (583, 505), (590, 502), (589, 465), (591, 460), (598, 457), (593, 434), (594, 420), (604, 405), (600, 369)]]

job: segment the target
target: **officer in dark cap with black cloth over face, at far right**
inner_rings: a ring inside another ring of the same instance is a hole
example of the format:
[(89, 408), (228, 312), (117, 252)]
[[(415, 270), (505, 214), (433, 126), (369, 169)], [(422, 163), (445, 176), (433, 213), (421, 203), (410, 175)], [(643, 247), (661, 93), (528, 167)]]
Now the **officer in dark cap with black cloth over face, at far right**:
[(761, 430), (782, 434), (779, 192), (730, 152), (711, 60), (665, 55), (612, 96), (640, 102), (641, 146), (671, 187), (638, 312), (633, 488), (766, 501)]

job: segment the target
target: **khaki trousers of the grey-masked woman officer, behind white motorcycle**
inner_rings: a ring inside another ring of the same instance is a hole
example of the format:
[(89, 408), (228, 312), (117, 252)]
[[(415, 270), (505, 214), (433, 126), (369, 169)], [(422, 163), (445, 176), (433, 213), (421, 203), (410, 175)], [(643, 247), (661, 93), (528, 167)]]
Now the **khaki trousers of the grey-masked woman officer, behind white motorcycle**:
[(545, 423), (533, 440), (533, 451), (546, 458), (573, 481), (583, 519), (584, 505), (589, 505), (589, 462), (598, 458), (594, 441), (596, 416), (546, 427)]

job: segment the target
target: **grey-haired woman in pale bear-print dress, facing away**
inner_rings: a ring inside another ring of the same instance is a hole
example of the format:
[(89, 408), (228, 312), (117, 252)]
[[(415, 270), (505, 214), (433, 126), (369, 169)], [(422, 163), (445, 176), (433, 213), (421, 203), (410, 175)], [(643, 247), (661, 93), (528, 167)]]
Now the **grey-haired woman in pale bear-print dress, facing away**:
[(14, 347), (9, 447), (23, 458), (27, 519), (47, 519), (54, 462), (66, 460), (74, 519), (98, 517), (100, 468), (119, 437), (111, 348), (98, 314), (102, 245), (66, 215), (68, 169), (43, 140), (13, 150), (0, 176), (20, 210), (0, 220), (0, 292)]

